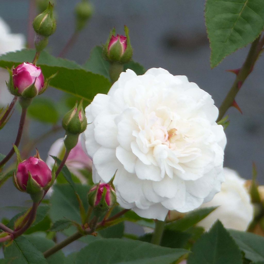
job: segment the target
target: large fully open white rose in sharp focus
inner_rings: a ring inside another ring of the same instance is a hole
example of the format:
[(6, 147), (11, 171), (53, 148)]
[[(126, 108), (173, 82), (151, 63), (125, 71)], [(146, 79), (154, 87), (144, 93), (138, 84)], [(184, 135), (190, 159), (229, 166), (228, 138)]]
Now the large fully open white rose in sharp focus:
[(145, 218), (198, 208), (224, 180), (226, 137), (217, 116), (211, 96), (186, 76), (161, 68), (121, 73), (86, 108), (93, 181), (116, 172), (117, 201)]

